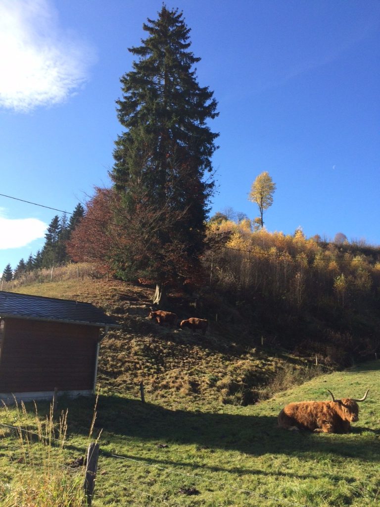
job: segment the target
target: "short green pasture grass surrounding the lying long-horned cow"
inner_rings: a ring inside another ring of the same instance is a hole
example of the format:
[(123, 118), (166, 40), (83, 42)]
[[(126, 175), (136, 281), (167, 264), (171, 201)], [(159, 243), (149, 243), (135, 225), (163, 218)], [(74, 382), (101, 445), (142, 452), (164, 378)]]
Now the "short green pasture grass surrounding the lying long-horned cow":
[[(93, 505), (378, 505), (379, 385), (376, 362), (318, 377), (247, 407), (142, 404), (137, 397), (100, 395), (95, 432), (103, 432)], [(368, 387), (350, 434), (277, 428), (277, 414), (289, 401), (328, 399), (328, 388), (336, 396), (359, 397)], [(69, 462), (86, 448), (93, 400), (59, 403), (68, 405)], [(46, 407), (40, 410), (42, 416)], [(12, 410), (0, 416), (7, 424), (14, 418)], [(12, 434), (4, 439), (9, 444)], [(3, 483), (19, 466), (10, 453), (17, 456), (6, 447), (0, 456)], [(192, 488), (198, 494), (186, 494), (195, 492)]]

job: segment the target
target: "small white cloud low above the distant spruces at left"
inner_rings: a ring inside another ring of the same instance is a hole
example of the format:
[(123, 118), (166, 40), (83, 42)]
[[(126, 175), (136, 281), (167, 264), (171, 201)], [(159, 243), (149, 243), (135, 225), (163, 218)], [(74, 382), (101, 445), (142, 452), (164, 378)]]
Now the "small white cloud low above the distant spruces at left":
[(37, 219), (6, 219), (0, 216), (0, 250), (26, 246), (34, 239), (43, 238), (47, 224)]

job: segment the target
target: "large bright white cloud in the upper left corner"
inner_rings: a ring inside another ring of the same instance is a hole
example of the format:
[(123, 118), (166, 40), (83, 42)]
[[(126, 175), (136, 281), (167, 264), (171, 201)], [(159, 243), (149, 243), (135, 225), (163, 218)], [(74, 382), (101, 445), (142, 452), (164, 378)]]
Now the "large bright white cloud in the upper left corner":
[(63, 102), (93, 61), (89, 47), (58, 26), (49, 0), (1, 0), (0, 106), (28, 112)]

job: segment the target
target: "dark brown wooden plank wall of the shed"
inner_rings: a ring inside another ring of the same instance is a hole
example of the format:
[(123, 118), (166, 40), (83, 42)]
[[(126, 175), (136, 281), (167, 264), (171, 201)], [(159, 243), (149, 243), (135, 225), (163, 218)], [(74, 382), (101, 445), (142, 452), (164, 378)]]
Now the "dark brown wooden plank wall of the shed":
[(0, 392), (92, 389), (99, 329), (7, 319)]

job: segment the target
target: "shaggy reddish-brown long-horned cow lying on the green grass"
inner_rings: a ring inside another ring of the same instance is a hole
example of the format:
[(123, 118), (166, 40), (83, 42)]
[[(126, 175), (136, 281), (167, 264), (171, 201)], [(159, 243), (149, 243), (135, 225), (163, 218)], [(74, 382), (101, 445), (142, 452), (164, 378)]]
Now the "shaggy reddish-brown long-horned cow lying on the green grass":
[[(328, 390), (328, 389), (327, 389)], [(360, 400), (336, 400), (330, 390), (332, 402), (299, 402), (286, 405), (278, 416), (278, 424), (285, 429), (310, 429), (315, 433), (348, 433), (351, 422), (359, 420), (356, 402), (364, 402), (369, 389)]]

